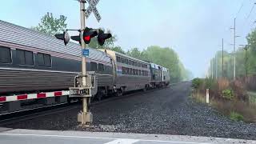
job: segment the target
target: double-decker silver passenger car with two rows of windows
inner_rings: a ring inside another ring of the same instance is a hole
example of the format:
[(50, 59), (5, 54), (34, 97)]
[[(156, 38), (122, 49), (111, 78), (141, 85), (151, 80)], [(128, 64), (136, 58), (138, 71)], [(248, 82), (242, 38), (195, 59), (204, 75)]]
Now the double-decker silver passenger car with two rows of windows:
[(114, 85), (118, 93), (150, 86), (150, 63), (112, 50), (102, 51), (114, 60)]

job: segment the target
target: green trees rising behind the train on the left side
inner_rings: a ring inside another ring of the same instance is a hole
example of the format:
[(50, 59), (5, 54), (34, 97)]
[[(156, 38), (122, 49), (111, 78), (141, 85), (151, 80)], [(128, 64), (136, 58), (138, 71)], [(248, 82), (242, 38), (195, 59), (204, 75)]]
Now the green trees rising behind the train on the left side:
[[(44, 34), (58, 34), (66, 30), (66, 17), (61, 15), (59, 18), (54, 18), (53, 14), (45, 14), (38, 26), (32, 27), (34, 30), (38, 30)], [(104, 30), (111, 33), (110, 30)], [(114, 35), (114, 34), (112, 34)], [(138, 58), (147, 62), (154, 62), (158, 65), (165, 66), (170, 70), (171, 82), (180, 82), (182, 80), (189, 80), (193, 77), (193, 74), (189, 70), (186, 70), (182, 62), (178, 58), (178, 54), (175, 53), (170, 47), (149, 46), (146, 50), (139, 50), (138, 48), (132, 48), (127, 52), (122, 49), (121, 46), (114, 46), (114, 42), (117, 41), (117, 36), (107, 39), (104, 46), (99, 46), (97, 38), (92, 38), (89, 46), (94, 49), (109, 49), (114, 50), (122, 54), (130, 55), (131, 57)]]

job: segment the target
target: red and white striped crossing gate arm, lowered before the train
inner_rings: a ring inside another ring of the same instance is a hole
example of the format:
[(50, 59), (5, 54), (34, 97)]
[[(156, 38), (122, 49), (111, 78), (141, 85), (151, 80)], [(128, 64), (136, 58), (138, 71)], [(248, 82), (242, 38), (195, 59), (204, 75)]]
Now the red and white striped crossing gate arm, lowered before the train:
[(12, 96), (0, 96), (0, 102), (14, 102), (22, 101), (28, 99), (37, 99), (37, 98), (50, 98), (50, 97), (61, 97), (70, 94), (70, 90), (54, 91), (47, 93), (38, 93), (38, 94), (20, 94)]

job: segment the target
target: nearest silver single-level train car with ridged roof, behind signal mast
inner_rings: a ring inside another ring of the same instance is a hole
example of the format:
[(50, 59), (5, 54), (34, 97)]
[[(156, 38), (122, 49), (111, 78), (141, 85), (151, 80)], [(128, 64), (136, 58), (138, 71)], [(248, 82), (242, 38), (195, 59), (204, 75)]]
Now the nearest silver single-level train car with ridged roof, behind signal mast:
[[(89, 48), (90, 49), (90, 48)], [(109, 56), (90, 49), (87, 70), (96, 71), (99, 88), (113, 89)], [(81, 47), (0, 21), (0, 94), (68, 90), (81, 71)]]

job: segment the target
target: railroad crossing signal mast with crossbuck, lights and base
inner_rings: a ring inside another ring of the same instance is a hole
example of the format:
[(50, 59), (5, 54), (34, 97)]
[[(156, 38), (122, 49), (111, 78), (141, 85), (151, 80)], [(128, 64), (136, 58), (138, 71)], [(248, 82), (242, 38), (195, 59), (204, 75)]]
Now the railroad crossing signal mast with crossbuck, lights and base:
[[(62, 34), (55, 34), (58, 39), (63, 40), (66, 46), (70, 42), (70, 38), (74, 41), (78, 41), (82, 47), (82, 74), (78, 74), (74, 78), (74, 87), (70, 87), (70, 97), (82, 98), (82, 112), (78, 113), (78, 122), (82, 122), (82, 126), (90, 126), (92, 122), (92, 114), (89, 110), (90, 98), (97, 93), (97, 81), (95, 74), (89, 74), (86, 72), (86, 57), (89, 56), (89, 49), (86, 49), (86, 44), (90, 43), (91, 38), (98, 37), (98, 44), (104, 45), (106, 39), (111, 38), (111, 34), (105, 34), (103, 30), (92, 29), (86, 27), (86, 18), (89, 18), (91, 12), (94, 13), (95, 18), (99, 22), (101, 16), (98, 13), (96, 5), (99, 0), (78, 0), (80, 3), (80, 16), (81, 16), (81, 29), (78, 30), (80, 35), (71, 36), (65, 30)], [(88, 2), (89, 6), (85, 9), (85, 3)]]

